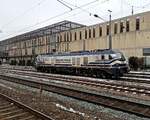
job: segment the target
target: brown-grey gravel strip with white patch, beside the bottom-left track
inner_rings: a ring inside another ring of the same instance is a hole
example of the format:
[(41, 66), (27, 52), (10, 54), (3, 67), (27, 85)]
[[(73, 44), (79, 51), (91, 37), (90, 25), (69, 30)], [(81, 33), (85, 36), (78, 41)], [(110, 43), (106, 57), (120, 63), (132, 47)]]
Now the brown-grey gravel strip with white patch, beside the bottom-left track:
[(56, 120), (148, 120), (46, 91), (40, 95), (38, 89), (7, 81), (0, 80), (0, 92)]

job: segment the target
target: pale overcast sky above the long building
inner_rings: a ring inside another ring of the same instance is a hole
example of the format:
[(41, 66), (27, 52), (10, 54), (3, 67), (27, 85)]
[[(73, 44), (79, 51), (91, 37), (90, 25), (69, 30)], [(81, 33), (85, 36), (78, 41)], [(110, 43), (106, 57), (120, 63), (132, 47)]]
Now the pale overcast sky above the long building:
[(0, 0), (0, 2), (0, 40), (63, 20), (84, 25), (104, 22), (92, 14), (98, 14), (108, 21), (108, 9), (112, 11), (112, 19), (131, 15), (132, 6), (134, 14), (150, 11), (150, 0), (63, 0), (70, 8), (57, 0)]

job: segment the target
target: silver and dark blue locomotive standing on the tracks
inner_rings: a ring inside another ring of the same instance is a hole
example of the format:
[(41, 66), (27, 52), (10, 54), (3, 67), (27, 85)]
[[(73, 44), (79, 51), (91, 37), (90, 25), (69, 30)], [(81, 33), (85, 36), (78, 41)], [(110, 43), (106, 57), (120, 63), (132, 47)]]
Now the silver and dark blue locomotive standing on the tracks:
[(101, 78), (119, 78), (129, 70), (124, 55), (110, 49), (38, 55), (35, 67), (42, 72)]

